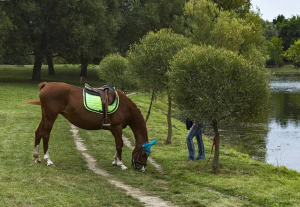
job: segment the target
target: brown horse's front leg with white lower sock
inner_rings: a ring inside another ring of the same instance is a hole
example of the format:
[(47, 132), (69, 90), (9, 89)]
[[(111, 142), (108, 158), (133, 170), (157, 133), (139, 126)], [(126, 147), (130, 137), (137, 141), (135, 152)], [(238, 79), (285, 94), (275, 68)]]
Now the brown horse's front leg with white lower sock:
[(121, 169), (128, 169), (122, 162), (122, 147), (123, 147), (123, 139), (122, 139), (122, 127), (114, 127), (110, 130), (114, 137), (115, 141), (115, 149), (116, 153), (114, 154), (114, 160), (112, 161), (112, 165), (117, 165)]

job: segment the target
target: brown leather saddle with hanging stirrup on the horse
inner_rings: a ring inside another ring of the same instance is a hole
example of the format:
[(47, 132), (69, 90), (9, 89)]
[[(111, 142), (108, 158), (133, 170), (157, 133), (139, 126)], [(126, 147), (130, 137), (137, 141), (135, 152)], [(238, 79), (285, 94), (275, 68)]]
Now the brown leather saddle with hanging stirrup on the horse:
[[(108, 105), (111, 105), (117, 98), (117, 92), (115, 89), (110, 85), (103, 85), (99, 88), (94, 88), (89, 86), (85, 83), (84, 88), (96, 92), (100, 94), (101, 101), (102, 101), (102, 110), (103, 110), (103, 120), (102, 120), (102, 129), (105, 128), (105, 126), (110, 126), (110, 119), (107, 117), (107, 110)], [(106, 123), (106, 120), (108, 120), (108, 123)]]

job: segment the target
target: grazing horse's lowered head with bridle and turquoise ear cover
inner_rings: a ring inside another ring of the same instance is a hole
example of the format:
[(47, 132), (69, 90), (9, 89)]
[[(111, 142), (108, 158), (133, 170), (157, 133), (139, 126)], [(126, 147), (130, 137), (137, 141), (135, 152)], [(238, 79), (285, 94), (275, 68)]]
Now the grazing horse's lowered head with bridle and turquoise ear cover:
[(156, 143), (157, 139), (149, 142), (145, 142), (140, 148), (134, 148), (132, 151), (131, 167), (138, 171), (145, 171), (147, 166), (147, 159), (151, 152), (150, 147)]

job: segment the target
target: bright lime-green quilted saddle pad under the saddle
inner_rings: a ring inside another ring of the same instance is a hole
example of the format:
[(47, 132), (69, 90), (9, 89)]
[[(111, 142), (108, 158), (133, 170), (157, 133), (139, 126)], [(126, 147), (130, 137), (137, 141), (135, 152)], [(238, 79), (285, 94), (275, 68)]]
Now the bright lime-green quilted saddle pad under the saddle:
[[(113, 113), (118, 106), (118, 96), (111, 105), (108, 105), (107, 114)], [(93, 92), (87, 92), (83, 89), (83, 103), (87, 110), (103, 114), (102, 101), (100, 95)]]

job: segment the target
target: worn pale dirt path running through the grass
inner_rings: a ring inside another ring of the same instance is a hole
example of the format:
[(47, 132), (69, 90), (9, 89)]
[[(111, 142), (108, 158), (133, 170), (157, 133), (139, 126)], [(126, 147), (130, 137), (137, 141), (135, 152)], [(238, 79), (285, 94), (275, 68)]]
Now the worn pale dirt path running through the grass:
[[(87, 167), (90, 170), (92, 170), (94, 173), (101, 174), (102, 176), (106, 177), (107, 180), (110, 183), (112, 183), (112, 184), (114, 184), (114, 185), (116, 185), (116, 186), (124, 189), (127, 194), (131, 195), (134, 198), (139, 199), (141, 202), (144, 203), (145, 206), (155, 206), (155, 207), (156, 206), (157, 207), (174, 206), (174, 205), (170, 205), (168, 202), (162, 200), (161, 198), (159, 198), (157, 196), (147, 195), (147, 193), (144, 192), (144, 191), (141, 191), (141, 189), (134, 188), (134, 187), (131, 187), (129, 185), (124, 184), (121, 181), (111, 179), (110, 174), (106, 170), (98, 168), (97, 165), (96, 165), (96, 160), (91, 155), (89, 155), (88, 153), (84, 152), (85, 150), (87, 150), (87, 148), (84, 145), (84, 143), (82, 143), (83, 140), (80, 138), (80, 136), (78, 134), (78, 128), (76, 126), (74, 126), (73, 124), (70, 124), (70, 125), (71, 125), (70, 131), (72, 132), (73, 139), (74, 139), (74, 142), (76, 144), (76, 148), (84, 156), (84, 159), (86, 161), (86, 165), (87, 165)], [(126, 140), (124, 140), (124, 143), (126, 145), (128, 144), (127, 146), (130, 147), (130, 148), (132, 148), (130, 141), (125, 136), (122, 136), (122, 138), (123, 138), (123, 140), (126, 139)], [(149, 159), (149, 161), (153, 164), (153, 160), (152, 159)], [(155, 164), (157, 164), (157, 163), (155, 163)], [(160, 165), (158, 165), (158, 166), (159, 166), (158, 168), (160, 168), (161, 171), (162, 171), (161, 166)]]

